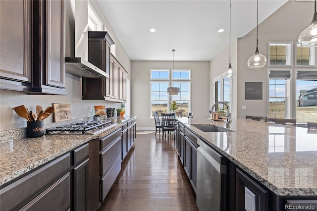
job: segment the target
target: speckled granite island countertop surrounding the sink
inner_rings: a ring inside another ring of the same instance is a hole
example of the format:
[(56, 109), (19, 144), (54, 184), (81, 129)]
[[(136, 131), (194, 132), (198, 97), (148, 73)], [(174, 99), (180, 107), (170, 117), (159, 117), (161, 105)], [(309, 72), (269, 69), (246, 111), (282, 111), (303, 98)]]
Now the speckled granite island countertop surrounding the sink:
[(229, 129), (235, 132), (203, 132), (194, 125), (225, 128), (225, 122), (179, 121), (275, 194), (317, 196), (317, 130), (233, 119)]

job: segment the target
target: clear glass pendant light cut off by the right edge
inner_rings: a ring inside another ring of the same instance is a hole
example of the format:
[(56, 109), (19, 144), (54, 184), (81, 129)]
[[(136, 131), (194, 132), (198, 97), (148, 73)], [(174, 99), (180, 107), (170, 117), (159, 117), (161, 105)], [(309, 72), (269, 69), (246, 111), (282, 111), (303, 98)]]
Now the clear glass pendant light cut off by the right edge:
[(317, 47), (317, 12), (315, 0), (315, 13), (312, 23), (299, 35), (298, 42), (301, 46)]

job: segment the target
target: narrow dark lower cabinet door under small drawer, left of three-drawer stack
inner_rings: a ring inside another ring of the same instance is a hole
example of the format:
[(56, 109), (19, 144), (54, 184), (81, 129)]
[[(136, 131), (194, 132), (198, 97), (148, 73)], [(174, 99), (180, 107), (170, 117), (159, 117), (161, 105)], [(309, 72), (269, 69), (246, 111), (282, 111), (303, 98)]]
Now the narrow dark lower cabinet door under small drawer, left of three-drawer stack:
[(89, 159), (86, 159), (73, 169), (73, 211), (88, 210), (88, 175), (89, 175)]

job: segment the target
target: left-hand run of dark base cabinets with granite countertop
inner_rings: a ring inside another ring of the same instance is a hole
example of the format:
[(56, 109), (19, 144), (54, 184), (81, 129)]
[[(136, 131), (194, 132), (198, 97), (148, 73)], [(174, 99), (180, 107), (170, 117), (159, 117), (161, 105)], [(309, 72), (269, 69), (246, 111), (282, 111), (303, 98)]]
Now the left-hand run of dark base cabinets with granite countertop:
[[(100, 182), (99, 176), (95, 178), (91, 174), (99, 175), (99, 169), (104, 169), (102, 181), (106, 188), (111, 187), (121, 169), (121, 160), (124, 158), (121, 155), (126, 154), (134, 143), (135, 118), (114, 118), (112, 126), (95, 135), (45, 134), (38, 138), (2, 142), (0, 209), (43, 210), (44, 207), (51, 207), (52, 210), (93, 210), (88, 209), (88, 204), (98, 208), (99, 203), (102, 203), (99, 195), (94, 199), (95, 204), (91, 201), (88, 203), (88, 196), (92, 196), (91, 184)], [(83, 121), (71, 121), (78, 120)], [(50, 123), (45, 127), (57, 124), (61, 123)], [(12, 131), (2, 132), (1, 136), (4, 137), (3, 134), (12, 134)], [(94, 149), (92, 143), (97, 143), (95, 151), (91, 151)], [(99, 157), (107, 158), (98, 163), (103, 164), (101, 167), (95, 165), (95, 158), (99, 160)], [(103, 194), (105, 196), (107, 192)]]

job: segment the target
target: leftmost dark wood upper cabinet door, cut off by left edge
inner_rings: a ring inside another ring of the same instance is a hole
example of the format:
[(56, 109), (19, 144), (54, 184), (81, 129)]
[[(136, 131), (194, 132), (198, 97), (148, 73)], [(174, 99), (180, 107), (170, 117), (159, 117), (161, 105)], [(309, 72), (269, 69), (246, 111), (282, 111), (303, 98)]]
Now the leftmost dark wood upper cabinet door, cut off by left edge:
[[(31, 82), (32, 1), (0, 0), (0, 77)], [(2, 82), (2, 81), (1, 81)], [(8, 81), (10, 82), (10, 81)], [(21, 83), (12, 90), (23, 91)], [(1, 88), (5, 84), (1, 83)]]

